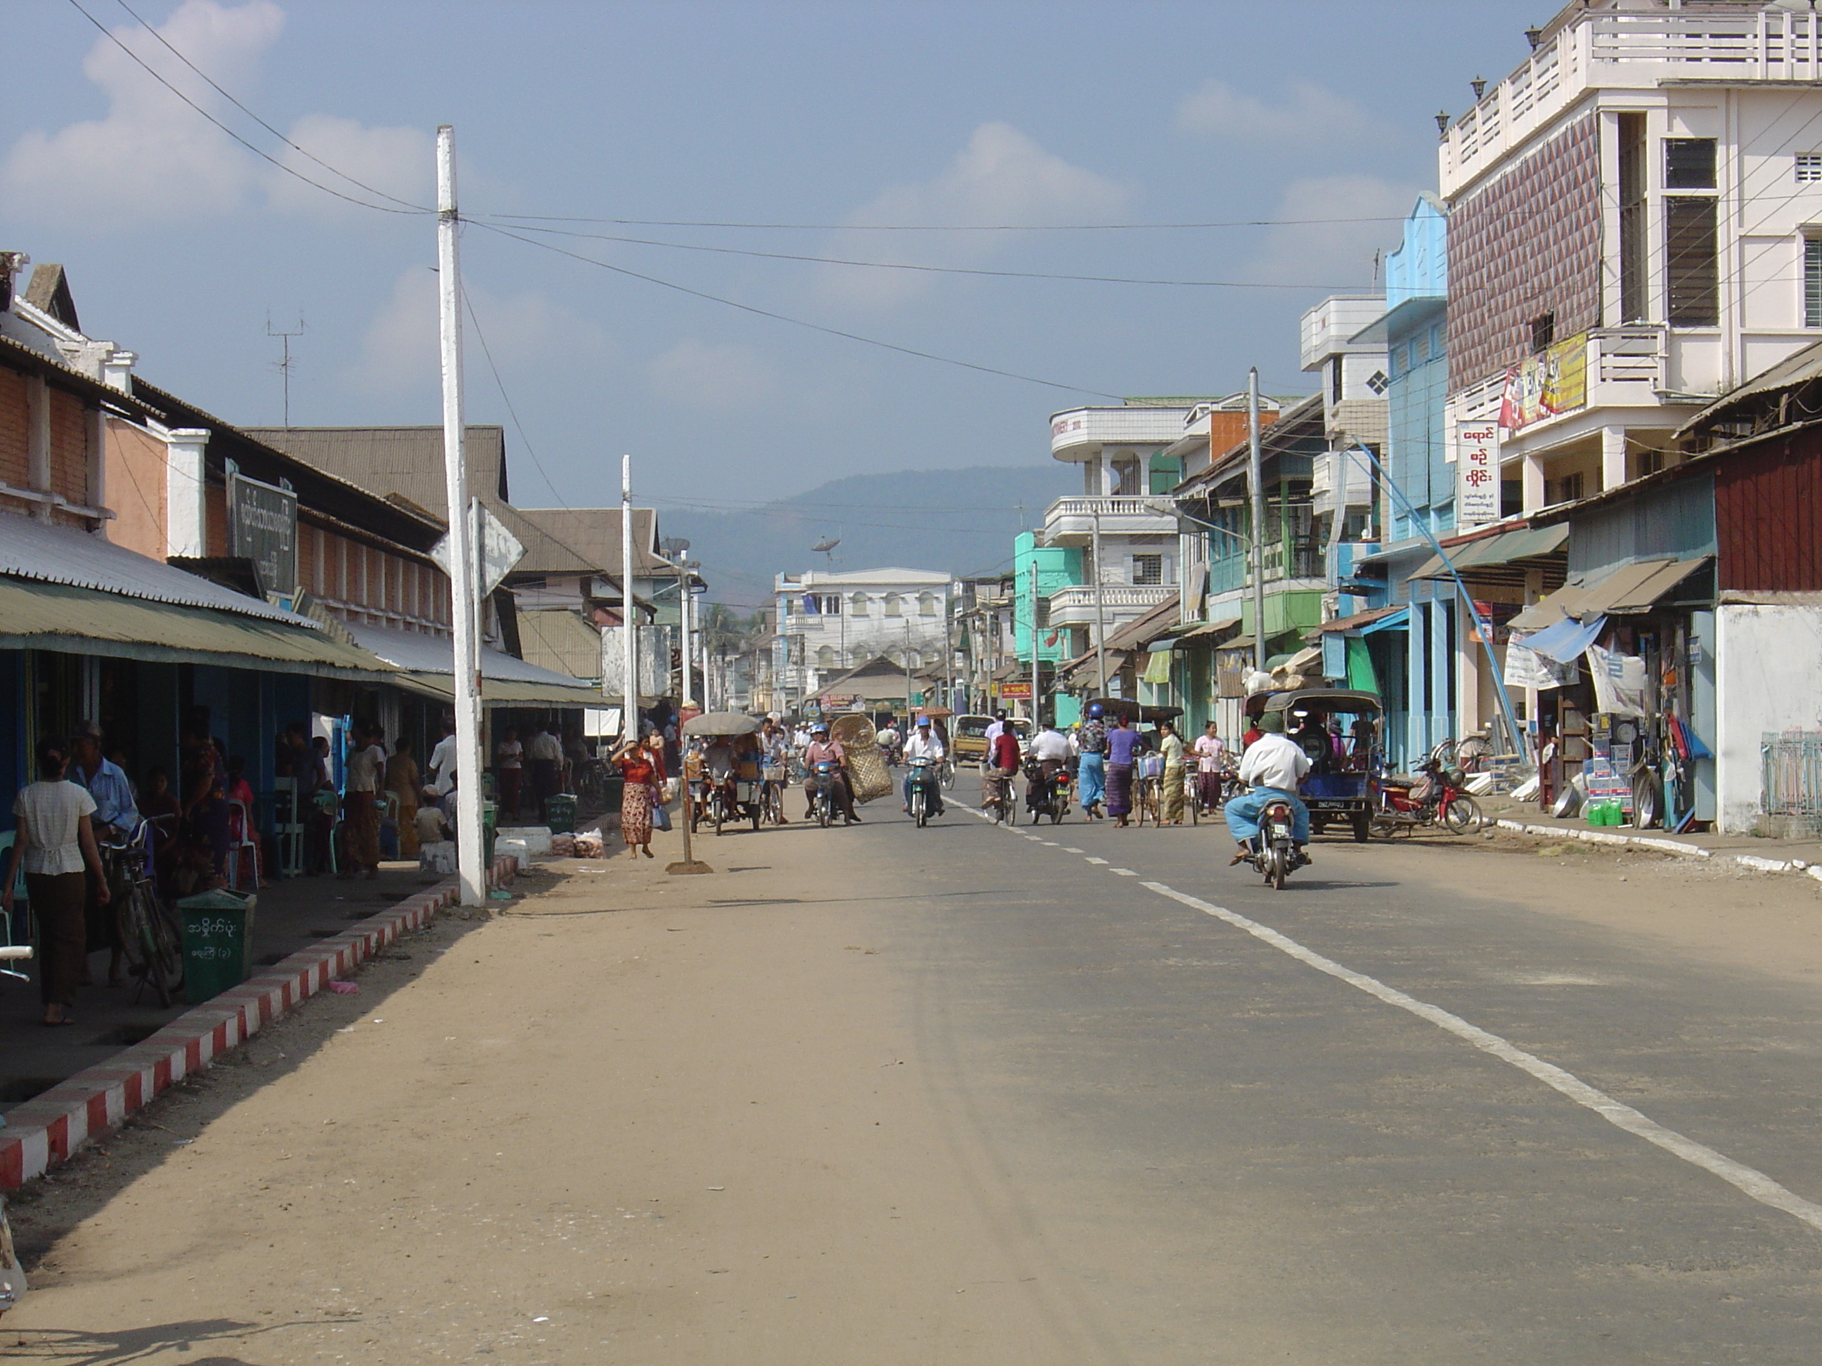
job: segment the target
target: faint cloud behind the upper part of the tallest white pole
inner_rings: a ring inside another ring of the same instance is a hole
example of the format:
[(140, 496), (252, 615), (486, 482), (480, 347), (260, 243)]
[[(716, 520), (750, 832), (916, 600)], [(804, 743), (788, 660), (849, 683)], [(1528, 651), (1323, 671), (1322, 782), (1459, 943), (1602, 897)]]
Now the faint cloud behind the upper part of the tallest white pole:
[[(599, 379), (601, 368), (614, 355), (616, 348), (599, 324), (541, 293), (496, 297), (472, 284), (465, 290), (508, 392), (514, 388), (514, 372), (548, 373), (552, 368), (570, 370), (578, 362)], [(466, 315), (463, 359), (468, 392), (492, 393), (494, 375), (474, 321)], [(439, 370), (437, 277), (425, 266), (412, 266), (399, 275), (392, 295), (368, 322), (361, 339), (361, 364), (350, 368), (344, 379), (361, 393), (384, 397), (434, 388)]]

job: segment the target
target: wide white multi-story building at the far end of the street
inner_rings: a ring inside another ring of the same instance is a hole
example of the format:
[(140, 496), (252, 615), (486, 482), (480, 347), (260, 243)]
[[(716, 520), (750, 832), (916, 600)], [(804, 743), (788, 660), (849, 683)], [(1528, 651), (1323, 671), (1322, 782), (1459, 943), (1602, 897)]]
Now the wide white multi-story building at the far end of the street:
[(935, 570), (807, 570), (773, 583), (773, 685), (802, 699), (831, 678), (885, 656), (902, 668), (944, 663), (949, 576)]

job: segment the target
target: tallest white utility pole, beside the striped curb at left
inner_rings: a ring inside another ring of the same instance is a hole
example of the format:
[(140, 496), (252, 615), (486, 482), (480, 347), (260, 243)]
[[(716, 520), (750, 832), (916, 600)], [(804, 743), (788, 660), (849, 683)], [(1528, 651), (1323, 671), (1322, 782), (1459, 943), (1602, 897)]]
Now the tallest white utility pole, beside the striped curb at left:
[(463, 905), (486, 905), (481, 867), (481, 652), (468, 450), (461, 406), (461, 262), (456, 224), (456, 129), (437, 129), (437, 324), (443, 352), (443, 492), (450, 523), (452, 676), (456, 683), (456, 867)]

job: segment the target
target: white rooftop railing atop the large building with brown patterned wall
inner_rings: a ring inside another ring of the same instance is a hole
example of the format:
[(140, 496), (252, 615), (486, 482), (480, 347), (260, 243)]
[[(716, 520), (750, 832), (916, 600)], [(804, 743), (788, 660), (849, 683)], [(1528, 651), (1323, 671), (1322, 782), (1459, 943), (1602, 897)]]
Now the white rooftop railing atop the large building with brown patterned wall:
[(1676, 76), (1817, 80), (1822, 16), (1778, 5), (1578, 15), (1450, 126), (1441, 149), (1443, 195), (1454, 195), (1585, 89), (1649, 87)]

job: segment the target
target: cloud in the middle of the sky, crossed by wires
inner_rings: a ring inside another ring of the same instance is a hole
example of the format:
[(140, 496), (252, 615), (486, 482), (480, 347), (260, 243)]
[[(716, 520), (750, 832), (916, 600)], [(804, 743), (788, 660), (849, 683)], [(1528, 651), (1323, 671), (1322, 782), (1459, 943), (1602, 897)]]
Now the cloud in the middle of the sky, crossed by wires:
[[(1071, 166), (1011, 124), (982, 124), (942, 175), (882, 189), (847, 222), (865, 224), (1035, 224), (1093, 222), (1121, 215), (1131, 191), (1108, 177)], [(1020, 240), (1020, 233), (869, 233), (842, 231), (829, 255), (924, 266), (978, 266)], [(824, 266), (822, 291), (851, 304), (896, 304), (937, 277), (911, 270)]]

